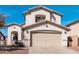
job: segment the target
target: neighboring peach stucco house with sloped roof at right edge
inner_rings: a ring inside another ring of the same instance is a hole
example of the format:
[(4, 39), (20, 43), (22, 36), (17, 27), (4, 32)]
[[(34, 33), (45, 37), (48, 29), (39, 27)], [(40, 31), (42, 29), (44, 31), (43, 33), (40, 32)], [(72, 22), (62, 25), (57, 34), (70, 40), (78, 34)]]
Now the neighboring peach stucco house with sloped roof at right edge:
[(79, 46), (79, 20), (71, 22), (66, 25), (70, 29), (68, 32), (68, 36), (71, 38), (71, 42), (69, 42), (69, 46)]

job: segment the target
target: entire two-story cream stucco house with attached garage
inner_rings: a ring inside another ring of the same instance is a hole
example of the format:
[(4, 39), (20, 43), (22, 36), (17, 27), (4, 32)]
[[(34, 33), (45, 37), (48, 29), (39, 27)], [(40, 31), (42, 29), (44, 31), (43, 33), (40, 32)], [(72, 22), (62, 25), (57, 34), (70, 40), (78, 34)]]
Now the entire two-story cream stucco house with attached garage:
[(8, 25), (7, 45), (16, 41), (25, 41), (28, 47), (67, 46), (67, 32), (70, 30), (61, 24), (62, 14), (38, 6), (24, 13), (25, 24)]

